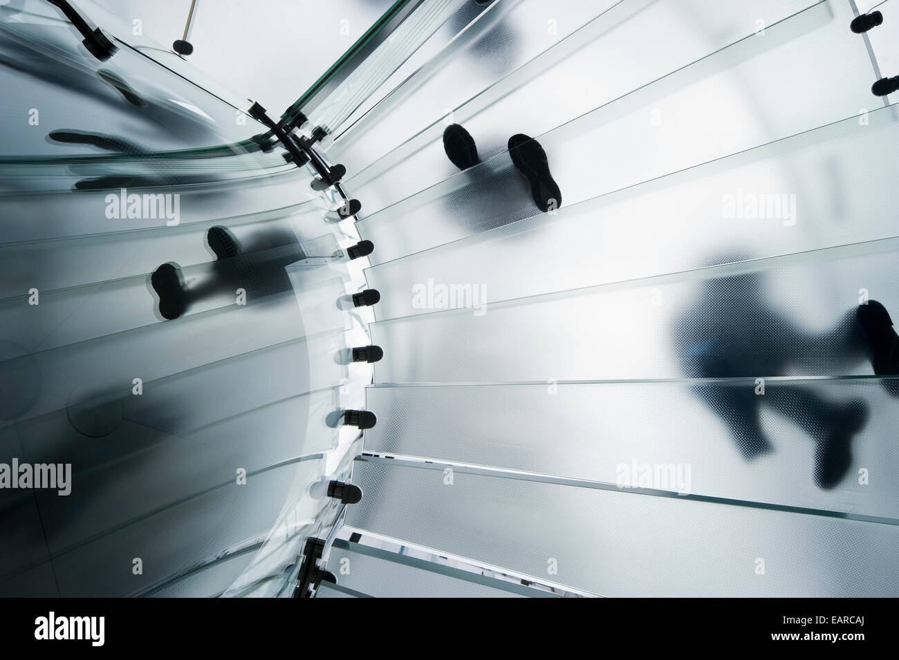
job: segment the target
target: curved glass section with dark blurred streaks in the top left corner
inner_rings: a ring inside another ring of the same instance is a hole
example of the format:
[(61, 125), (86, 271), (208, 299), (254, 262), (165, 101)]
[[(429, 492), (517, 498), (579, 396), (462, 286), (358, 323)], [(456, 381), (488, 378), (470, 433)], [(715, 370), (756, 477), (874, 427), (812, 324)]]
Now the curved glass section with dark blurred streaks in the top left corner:
[[(4, 110), (22, 118), (22, 130), (4, 132), (4, 154), (85, 153), (83, 144), (47, 139), (60, 131), (102, 135), (137, 152), (248, 137), (234, 108), (209, 102), (208, 92), (180, 76), (161, 75), (156, 62), (124, 44), (105, 62), (88, 56), (59, 15), (0, 13), (0, 52), (16, 63), (0, 69), (0, 85), (16, 90), (4, 97)], [(64, 105), (60, 86), (70, 92)], [(28, 123), (31, 109), (43, 110), (38, 126)]]

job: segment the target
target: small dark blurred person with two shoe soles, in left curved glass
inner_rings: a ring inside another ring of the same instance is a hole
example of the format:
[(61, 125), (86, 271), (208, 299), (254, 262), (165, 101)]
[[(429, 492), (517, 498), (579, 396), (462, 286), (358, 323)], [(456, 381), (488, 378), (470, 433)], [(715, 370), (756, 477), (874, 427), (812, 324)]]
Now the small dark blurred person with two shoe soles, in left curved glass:
[(255, 233), (241, 245), (226, 227), (215, 226), (206, 234), (209, 249), (216, 255), (207, 277), (186, 286), (181, 268), (165, 263), (150, 276), (150, 284), (159, 296), (159, 313), (166, 320), (177, 319), (191, 304), (218, 295), (246, 292), (246, 303), (271, 300), (293, 291), (284, 269), (305, 259), (296, 236), (288, 229)]

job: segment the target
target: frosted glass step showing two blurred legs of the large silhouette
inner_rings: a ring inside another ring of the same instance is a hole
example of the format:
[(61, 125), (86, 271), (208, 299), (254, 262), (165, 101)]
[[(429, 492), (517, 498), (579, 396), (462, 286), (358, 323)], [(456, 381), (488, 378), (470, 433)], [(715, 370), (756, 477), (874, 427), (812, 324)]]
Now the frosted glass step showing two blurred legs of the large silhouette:
[[(877, 378), (373, 387), (365, 450), (899, 524), (895, 399)], [(427, 414), (415, 411), (426, 410)], [(485, 414), (459, 415), (459, 410)], [(850, 426), (847, 411), (858, 410)], [(850, 460), (814, 480), (830, 434)], [(877, 483), (859, 484), (859, 470)]]

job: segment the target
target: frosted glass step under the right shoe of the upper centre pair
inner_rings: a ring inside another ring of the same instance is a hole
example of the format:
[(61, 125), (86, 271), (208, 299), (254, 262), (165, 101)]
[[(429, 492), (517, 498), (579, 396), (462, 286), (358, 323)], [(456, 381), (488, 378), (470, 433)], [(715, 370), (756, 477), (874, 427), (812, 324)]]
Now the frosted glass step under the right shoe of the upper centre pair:
[[(539, 136), (562, 207), (858, 115), (871, 61), (850, 15), (815, 4)], [(821, 66), (832, 84), (818, 84)], [(360, 233), (387, 246), (383, 262), (532, 216), (529, 192), (501, 153), (366, 216)]]

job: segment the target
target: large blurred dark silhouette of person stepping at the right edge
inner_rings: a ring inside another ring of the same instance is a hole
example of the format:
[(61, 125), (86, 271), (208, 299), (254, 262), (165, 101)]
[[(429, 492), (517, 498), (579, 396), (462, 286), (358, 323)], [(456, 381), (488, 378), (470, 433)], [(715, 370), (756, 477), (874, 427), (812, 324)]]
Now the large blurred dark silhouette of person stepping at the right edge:
[[(739, 260), (739, 259), (729, 259)], [(673, 324), (686, 375), (693, 378), (763, 378), (788, 374), (789, 367), (837, 366), (867, 358), (875, 374), (899, 375), (899, 337), (883, 304), (868, 301), (845, 312), (830, 330), (810, 333), (767, 300), (757, 272), (705, 282), (696, 304)], [(899, 397), (899, 379), (884, 379)], [(814, 482), (833, 488), (852, 462), (852, 441), (868, 421), (864, 400), (827, 400), (809, 385), (707, 383), (694, 388), (728, 427), (746, 461), (773, 451), (761, 429), (762, 405), (790, 418), (814, 439)]]

